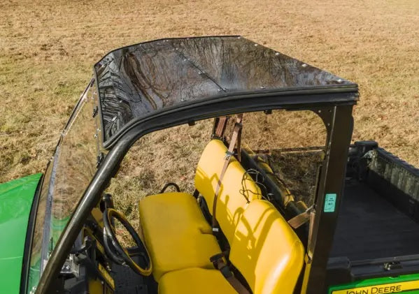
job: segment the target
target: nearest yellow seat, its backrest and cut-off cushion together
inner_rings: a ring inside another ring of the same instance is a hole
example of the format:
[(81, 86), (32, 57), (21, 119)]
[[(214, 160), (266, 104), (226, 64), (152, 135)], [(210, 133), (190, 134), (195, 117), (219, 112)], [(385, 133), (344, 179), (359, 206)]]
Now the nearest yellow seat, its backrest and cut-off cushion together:
[[(271, 203), (253, 200), (237, 223), (229, 255), (254, 294), (292, 294), (304, 263), (304, 247)], [(164, 274), (159, 294), (236, 293), (218, 270)]]

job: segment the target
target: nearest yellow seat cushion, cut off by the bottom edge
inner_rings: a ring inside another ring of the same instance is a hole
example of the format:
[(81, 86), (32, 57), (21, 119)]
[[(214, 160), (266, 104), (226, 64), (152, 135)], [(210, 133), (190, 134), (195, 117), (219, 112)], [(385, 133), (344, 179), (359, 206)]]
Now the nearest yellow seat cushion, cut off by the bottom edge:
[(159, 294), (237, 294), (218, 270), (188, 268), (164, 274), (159, 281)]

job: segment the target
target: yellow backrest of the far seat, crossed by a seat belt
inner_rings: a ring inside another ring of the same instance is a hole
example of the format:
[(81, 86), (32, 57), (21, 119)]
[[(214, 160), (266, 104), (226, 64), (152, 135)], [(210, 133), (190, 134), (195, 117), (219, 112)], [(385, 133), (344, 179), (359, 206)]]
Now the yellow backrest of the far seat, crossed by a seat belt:
[[(226, 152), (227, 147), (221, 140), (211, 140), (202, 152), (195, 175), (195, 187), (205, 198), (211, 214), (215, 189), (225, 163)], [(232, 156), (220, 185), (216, 212), (216, 219), (229, 244), (233, 240), (236, 224), (248, 202), (260, 198), (261, 195), (257, 184)]]

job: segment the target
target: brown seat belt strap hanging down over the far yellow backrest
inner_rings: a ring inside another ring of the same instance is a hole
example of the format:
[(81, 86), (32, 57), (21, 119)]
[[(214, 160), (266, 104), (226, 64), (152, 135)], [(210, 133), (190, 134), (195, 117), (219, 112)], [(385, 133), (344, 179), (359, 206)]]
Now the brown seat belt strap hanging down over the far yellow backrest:
[[(227, 166), (229, 165), (230, 158), (234, 154), (234, 146), (236, 145), (236, 142), (238, 143), (241, 142), (240, 137), (241, 137), (242, 120), (243, 120), (243, 114), (237, 115), (236, 124), (234, 125), (232, 140), (230, 140), (229, 149), (227, 150), (227, 153), (225, 154), (224, 165), (222, 166), (222, 170), (220, 172), (220, 178), (218, 179), (217, 187), (215, 188), (215, 194), (214, 194), (214, 200), (213, 200), (213, 233), (218, 232), (218, 228), (217, 228), (218, 222), (215, 217), (215, 212), (217, 211), (218, 193), (220, 193), (221, 182), (222, 182), (222, 179), (224, 178), (225, 172), (227, 170)], [(239, 153), (239, 150), (240, 150), (240, 147), (238, 144), (237, 146), (238, 153)]]

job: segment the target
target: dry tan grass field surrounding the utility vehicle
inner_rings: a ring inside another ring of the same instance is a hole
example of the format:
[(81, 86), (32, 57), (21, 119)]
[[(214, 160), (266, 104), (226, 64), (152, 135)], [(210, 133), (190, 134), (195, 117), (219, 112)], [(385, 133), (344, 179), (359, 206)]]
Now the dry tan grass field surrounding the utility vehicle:
[[(106, 52), (218, 34), (241, 34), (357, 82), (353, 140), (377, 140), (419, 166), (419, 1), (1, 0), (0, 182), (44, 170), (92, 65)], [(184, 142), (208, 138), (199, 130), (176, 134)], [(113, 191), (129, 193), (132, 182), (120, 179)]]

